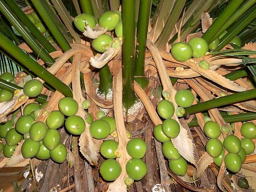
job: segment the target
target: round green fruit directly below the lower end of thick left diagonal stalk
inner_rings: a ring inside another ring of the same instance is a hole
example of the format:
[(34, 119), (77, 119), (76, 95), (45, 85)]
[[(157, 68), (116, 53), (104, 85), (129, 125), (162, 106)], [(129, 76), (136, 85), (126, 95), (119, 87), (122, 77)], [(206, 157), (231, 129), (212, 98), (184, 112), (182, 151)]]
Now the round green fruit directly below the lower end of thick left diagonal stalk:
[(77, 113), (78, 104), (73, 98), (64, 97), (59, 101), (59, 110), (66, 116), (72, 116)]

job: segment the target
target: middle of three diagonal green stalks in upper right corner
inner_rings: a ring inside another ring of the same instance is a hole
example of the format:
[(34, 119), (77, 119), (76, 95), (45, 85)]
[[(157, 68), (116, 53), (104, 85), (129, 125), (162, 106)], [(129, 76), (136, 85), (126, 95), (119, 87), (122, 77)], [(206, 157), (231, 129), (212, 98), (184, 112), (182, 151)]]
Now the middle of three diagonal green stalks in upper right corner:
[(214, 35), (211, 41), (216, 39), (220, 34), (222, 34), (229, 26), (231, 26), (242, 14), (244, 14), (248, 9), (256, 3), (256, 0), (247, 0), (232, 16), (224, 23), (220, 30)]

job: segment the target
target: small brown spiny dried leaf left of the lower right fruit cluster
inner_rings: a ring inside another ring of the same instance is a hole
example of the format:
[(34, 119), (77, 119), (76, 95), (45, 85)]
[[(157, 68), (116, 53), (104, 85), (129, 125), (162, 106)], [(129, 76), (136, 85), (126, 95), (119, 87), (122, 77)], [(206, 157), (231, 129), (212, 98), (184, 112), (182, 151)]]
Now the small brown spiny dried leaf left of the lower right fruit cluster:
[(200, 178), (200, 175), (206, 168), (213, 163), (213, 158), (207, 153), (204, 152), (204, 154), (200, 157), (198, 162), (196, 163), (196, 169), (194, 172), (194, 179)]

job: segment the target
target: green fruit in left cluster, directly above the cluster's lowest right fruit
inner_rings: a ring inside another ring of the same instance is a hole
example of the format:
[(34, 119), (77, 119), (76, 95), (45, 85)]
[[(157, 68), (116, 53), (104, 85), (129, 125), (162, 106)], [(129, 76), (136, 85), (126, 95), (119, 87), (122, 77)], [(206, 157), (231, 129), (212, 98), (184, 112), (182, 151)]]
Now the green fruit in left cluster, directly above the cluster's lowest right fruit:
[(43, 139), (44, 146), (48, 150), (53, 150), (60, 144), (60, 133), (56, 129), (48, 129), (45, 138)]

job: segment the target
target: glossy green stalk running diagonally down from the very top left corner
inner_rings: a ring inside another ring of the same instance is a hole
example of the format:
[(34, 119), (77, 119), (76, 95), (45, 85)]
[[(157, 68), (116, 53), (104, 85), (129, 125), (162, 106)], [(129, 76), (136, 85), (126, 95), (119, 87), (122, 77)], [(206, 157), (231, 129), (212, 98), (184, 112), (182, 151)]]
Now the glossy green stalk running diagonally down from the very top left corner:
[(41, 58), (44, 62), (53, 64), (55, 60), (46, 52), (46, 50), (38, 43), (38, 41), (32, 36), (30, 31), (24, 26), (18, 17), (12, 12), (9, 6), (4, 2), (4, 0), (0, 0), (0, 11), (7, 20), (16, 28), (16, 30), (20, 33), (20, 35), (24, 38), (24, 40), (28, 43), (30, 48), (34, 50), (34, 52)]

